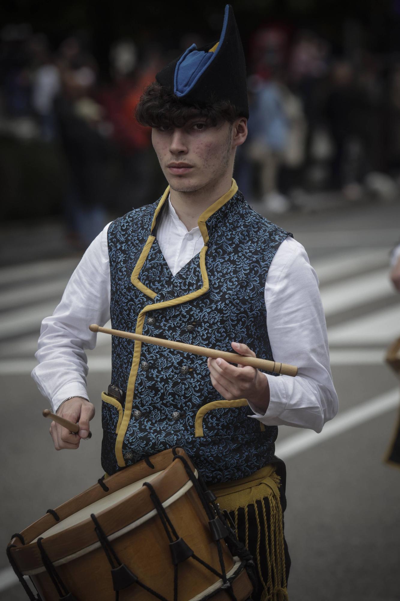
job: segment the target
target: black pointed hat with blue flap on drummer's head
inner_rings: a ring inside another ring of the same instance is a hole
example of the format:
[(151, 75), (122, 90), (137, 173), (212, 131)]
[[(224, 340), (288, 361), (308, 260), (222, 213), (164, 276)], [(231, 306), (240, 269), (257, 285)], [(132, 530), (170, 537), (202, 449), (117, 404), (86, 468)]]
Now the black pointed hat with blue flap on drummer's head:
[(219, 41), (201, 48), (192, 44), (156, 79), (189, 105), (229, 100), (241, 117), (248, 118), (246, 62), (231, 5), (225, 7)]

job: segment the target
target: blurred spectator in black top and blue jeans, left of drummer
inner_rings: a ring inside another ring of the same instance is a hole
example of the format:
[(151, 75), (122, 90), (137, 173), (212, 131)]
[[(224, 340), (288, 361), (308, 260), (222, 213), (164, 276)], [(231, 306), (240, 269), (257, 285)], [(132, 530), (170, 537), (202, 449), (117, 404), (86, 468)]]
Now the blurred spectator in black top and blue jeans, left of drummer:
[(92, 98), (94, 58), (83, 52), (78, 40), (69, 38), (61, 46), (59, 66), (62, 88), (54, 106), (70, 172), (64, 213), (71, 242), (85, 249), (107, 221), (112, 147), (103, 109)]

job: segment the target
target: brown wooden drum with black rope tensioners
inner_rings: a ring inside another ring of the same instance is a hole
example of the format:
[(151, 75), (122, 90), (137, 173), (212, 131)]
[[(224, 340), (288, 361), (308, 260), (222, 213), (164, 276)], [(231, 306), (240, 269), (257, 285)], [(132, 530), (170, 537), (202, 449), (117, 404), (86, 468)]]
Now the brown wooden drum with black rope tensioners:
[(248, 552), (180, 448), (100, 479), (7, 553), (43, 601), (244, 601), (253, 590)]

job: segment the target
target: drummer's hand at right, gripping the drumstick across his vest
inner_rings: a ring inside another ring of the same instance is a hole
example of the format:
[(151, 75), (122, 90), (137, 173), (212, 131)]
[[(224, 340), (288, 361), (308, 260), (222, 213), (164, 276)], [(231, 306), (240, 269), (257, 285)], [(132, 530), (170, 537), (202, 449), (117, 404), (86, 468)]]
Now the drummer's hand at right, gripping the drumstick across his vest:
[[(231, 343), (239, 355), (255, 357), (246, 344)], [(224, 359), (208, 359), (211, 383), (226, 400), (247, 398), (260, 413), (265, 413), (270, 402), (270, 387), (267, 377), (250, 365), (237, 367)]]

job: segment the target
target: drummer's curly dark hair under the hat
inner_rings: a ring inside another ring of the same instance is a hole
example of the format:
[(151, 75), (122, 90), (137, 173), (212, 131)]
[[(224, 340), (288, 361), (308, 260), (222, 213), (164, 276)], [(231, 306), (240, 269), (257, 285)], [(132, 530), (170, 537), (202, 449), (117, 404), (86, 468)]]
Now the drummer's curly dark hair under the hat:
[(189, 105), (157, 82), (145, 89), (135, 109), (138, 123), (148, 127), (184, 127), (188, 121), (198, 117), (205, 117), (208, 124), (216, 126), (220, 121), (233, 123), (240, 116), (238, 109), (228, 100)]

